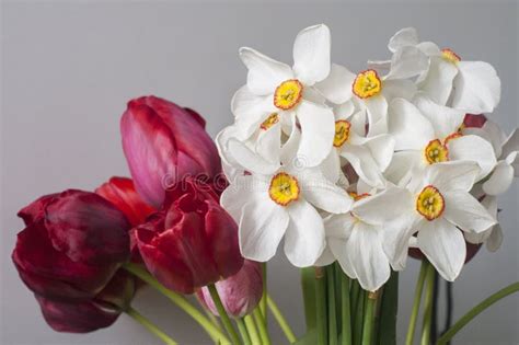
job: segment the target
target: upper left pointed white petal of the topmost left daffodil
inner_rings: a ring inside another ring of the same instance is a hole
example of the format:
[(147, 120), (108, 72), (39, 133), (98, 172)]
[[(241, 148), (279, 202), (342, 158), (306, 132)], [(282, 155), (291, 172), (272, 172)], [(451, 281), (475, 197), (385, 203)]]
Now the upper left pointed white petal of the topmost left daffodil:
[(257, 95), (273, 94), (276, 88), (293, 78), (292, 69), (249, 47), (240, 48), (240, 58), (249, 69), (246, 84)]

